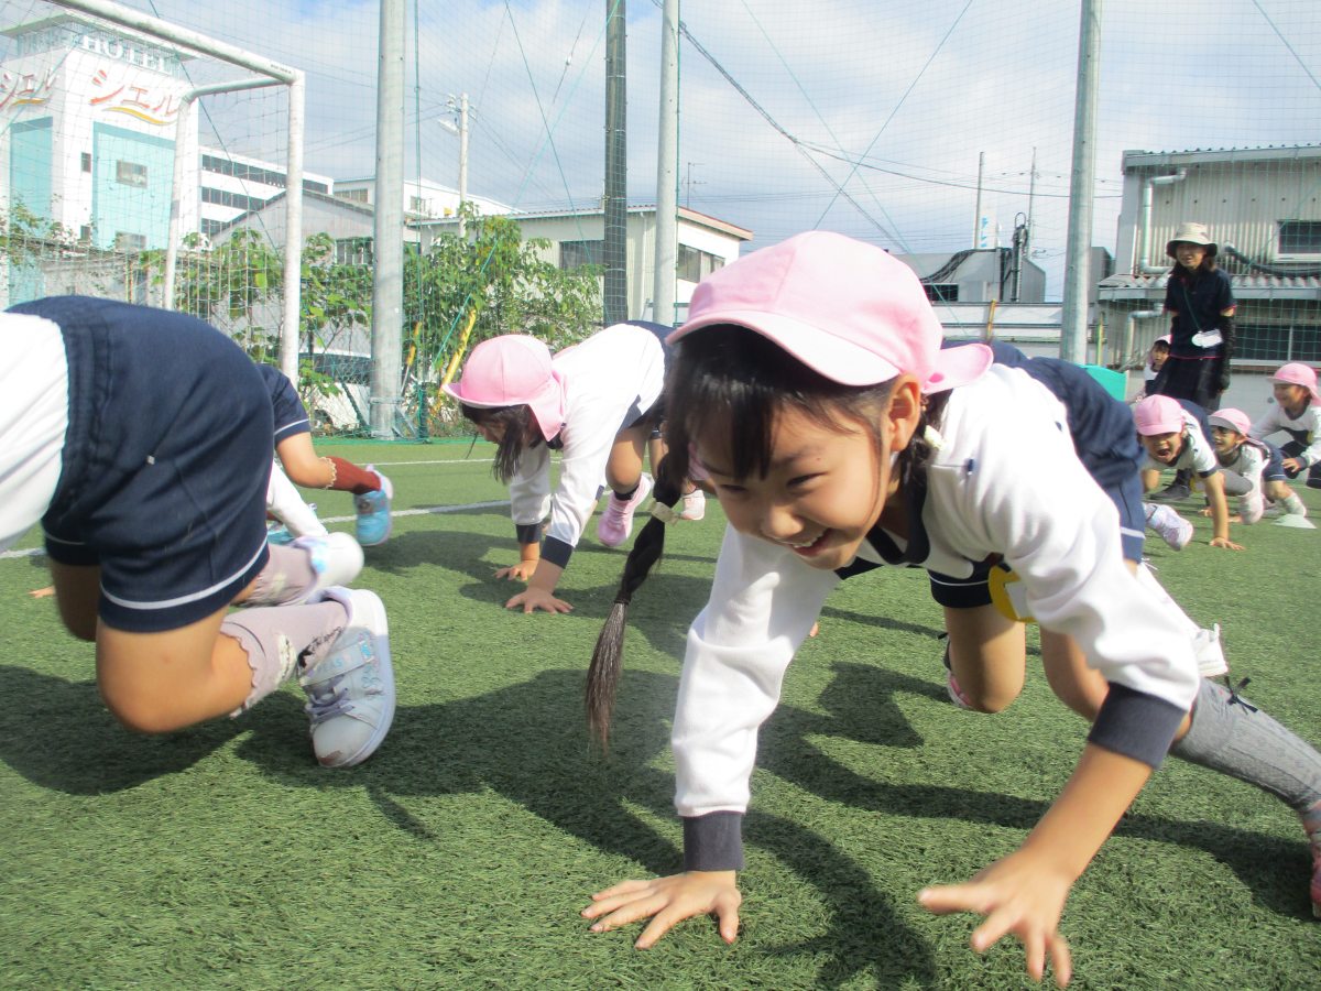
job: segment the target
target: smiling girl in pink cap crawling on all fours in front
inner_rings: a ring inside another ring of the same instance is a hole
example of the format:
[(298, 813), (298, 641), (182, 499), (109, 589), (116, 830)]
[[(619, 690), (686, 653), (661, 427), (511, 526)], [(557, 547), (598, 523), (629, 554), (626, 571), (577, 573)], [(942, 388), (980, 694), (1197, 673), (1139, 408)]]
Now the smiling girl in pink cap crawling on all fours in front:
[[(950, 659), (974, 692), (1021, 686), (1017, 618), (1030, 614), (1066, 700), (1103, 696), (1077, 770), (1024, 844), (966, 884), (919, 893), (931, 912), (987, 917), (975, 950), (1013, 934), (1029, 974), (1040, 979), (1049, 958), (1067, 983), (1058, 926), (1070, 888), (1180, 733), (1184, 756), (1287, 790), (1321, 834), (1321, 756), (1198, 677), (1196, 624), (1136, 567), (1131, 414), (1094, 402), (1086, 373), (1021, 355), (1000, 363), (979, 344), (942, 349), (908, 267), (820, 231), (709, 276), (688, 312), (670, 337), (675, 416), (657, 498), (674, 502), (672, 478), (700, 461), (729, 527), (688, 630), (672, 729), (684, 872), (597, 892), (583, 912), (593, 932), (650, 917), (637, 939), (646, 947), (683, 918), (715, 914), (733, 942), (758, 727), (831, 589), (886, 564), (929, 571)], [(660, 530), (658, 518), (638, 535), (592, 659), (588, 711), (602, 737), (625, 608)], [(1017, 618), (992, 604), (996, 583)], [(1317, 850), (1321, 868), (1321, 839)], [(1313, 895), (1321, 901), (1321, 881)]]

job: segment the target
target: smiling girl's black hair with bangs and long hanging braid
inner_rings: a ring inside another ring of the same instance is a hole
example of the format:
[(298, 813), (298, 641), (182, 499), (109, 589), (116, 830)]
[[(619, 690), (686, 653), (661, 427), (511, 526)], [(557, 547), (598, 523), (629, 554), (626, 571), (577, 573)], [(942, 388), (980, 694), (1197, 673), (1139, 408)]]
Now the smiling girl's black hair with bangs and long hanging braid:
[[(793, 408), (827, 429), (841, 420), (864, 424), (881, 449), (878, 412), (893, 382), (843, 386), (812, 371), (761, 334), (742, 326), (711, 326), (684, 337), (675, 349), (666, 381), (666, 444), (668, 453), (655, 468), (657, 502), (672, 507), (690, 474), (691, 447), (699, 432), (728, 432), (736, 477), (764, 476), (770, 468), (775, 418)], [(900, 453), (901, 485), (925, 481), (931, 453), (927, 424), (938, 425), (947, 392), (923, 407), (922, 420)], [(725, 468), (725, 465), (721, 465)], [(624, 564), (614, 605), (592, 651), (587, 677), (587, 719), (592, 735), (608, 745), (610, 715), (624, 661), (627, 606), (664, 550), (664, 523), (653, 517), (639, 530)]]

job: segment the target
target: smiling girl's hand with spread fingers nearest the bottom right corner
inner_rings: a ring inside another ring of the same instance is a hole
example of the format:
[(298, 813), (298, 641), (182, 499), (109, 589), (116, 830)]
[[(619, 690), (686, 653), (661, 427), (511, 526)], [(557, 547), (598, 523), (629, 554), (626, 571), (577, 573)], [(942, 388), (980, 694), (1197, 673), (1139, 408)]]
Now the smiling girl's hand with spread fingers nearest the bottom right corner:
[(980, 871), (967, 884), (925, 888), (917, 899), (938, 916), (951, 912), (985, 916), (972, 930), (974, 950), (985, 953), (1012, 933), (1022, 942), (1029, 976), (1041, 980), (1049, 959), (1055, 983), (1065, 987), (1073, 976), (1073, 958), (1069, 942), (1059, 934), (1059, 916), (1071, 883), (1071, 877), (1018, 851)]

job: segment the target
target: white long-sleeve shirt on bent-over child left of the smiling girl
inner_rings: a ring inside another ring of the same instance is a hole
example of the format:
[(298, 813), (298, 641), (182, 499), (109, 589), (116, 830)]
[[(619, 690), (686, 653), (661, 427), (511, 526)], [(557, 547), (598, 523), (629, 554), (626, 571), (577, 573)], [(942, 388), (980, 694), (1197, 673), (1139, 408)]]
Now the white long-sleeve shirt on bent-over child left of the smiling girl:
[[(614, 324), (552, 358), (564, 387), (560, 478), (551, 494), (551, 449), (528, 448), (510, 481), (520, 534), (551, 517), (542, 558), (563, 567), (577, 546), (618, 432), (655, 406), (664, 388), (664, 350), (650, 330)], [(530, 543), (531, 540), (524, 540)]]

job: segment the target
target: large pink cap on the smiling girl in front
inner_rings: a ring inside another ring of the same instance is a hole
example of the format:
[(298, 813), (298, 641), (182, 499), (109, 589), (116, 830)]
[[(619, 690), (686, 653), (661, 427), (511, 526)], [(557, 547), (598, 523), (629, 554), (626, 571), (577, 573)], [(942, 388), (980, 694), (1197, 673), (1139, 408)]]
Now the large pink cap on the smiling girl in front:
[(701, 280), (668, 344), (734, 324), (774, 341), (832, 382), (872, 386), (909, 371), (923, 392), (972, 382), (993, 361), (982, 344), (941, 349), (941, 321), (906, 264), (875, 244), (808, 231)]

